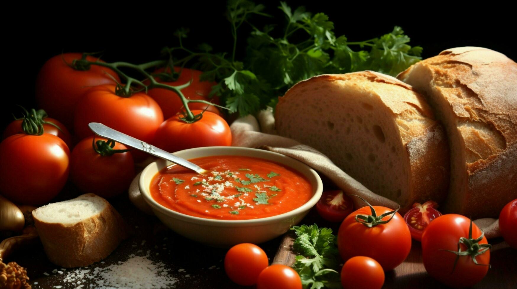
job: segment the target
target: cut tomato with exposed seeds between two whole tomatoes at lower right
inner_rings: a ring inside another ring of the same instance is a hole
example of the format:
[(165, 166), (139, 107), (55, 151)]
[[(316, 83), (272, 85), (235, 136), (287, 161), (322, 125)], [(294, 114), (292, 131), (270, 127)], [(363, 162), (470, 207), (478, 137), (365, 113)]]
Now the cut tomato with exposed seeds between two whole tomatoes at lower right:
[(442, 216), (442, 213), (438, 212), (436, 207), (438, 207), (438, 204), (433, 201), (427, 201), (423, 204), (414, 203), (413, 208), (404, 215), (404, 221), (407, 223), (413, 239), (420, 241), (422, 233), (429, 223)]

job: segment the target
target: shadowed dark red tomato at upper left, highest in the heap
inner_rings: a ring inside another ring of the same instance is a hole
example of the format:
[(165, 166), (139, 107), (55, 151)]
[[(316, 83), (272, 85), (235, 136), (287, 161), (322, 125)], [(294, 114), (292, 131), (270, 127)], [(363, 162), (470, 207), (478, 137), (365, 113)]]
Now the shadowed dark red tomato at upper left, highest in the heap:
[[(81, 56), (81, 53), (56, 55), (45, 62), (36, 78), (38, 106), (69, 128), (73, 126), (75, 105), (89, 87), (115, 84), (112, 77), (120, 82), (118, 75), (105, 67), (92, 65), (85, 71), (71, 68), (72, 60), (81, 59)], [(96, 61), (97, 57), (87, 56), (86, 59)]]

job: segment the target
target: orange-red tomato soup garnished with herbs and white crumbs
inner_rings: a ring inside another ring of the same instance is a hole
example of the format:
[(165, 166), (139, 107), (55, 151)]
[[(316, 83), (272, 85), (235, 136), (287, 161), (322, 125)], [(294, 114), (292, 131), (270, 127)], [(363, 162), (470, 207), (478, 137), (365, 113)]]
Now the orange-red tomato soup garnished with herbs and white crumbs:
[(312, 197), (302, 174), (266, 159), (224, 155), (190, 161), (210, 173), (177, 165), (162, 169), (149, 187), (155, 201), (190, 216), (246, 220), (290, 212)]

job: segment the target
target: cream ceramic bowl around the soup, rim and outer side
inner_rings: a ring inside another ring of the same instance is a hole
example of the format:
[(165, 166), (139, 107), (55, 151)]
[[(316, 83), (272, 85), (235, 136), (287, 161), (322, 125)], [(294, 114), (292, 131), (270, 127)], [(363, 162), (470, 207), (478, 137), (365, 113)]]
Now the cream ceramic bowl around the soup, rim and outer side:
[(251, 220), (206, 219), (178, 213), (156, 202), (149, 193), (151, 179), (158, 171), (171, 163), (160, 159), (149, 164), (142, 171), (139, 181), (140, 192), (144, 200), (153, 209), (155, 215), (173, 231), (209, 246), (230, 247), (239, 243), (258, 244), (278, 237), (305, 217), (322, 195), (322, 180), (313, 169), (292, 157), (279, 153), (241, 147), (204, 147), (183, 150), (174, 154), (185, 159), (213, 155), (260, 157), (297, 170), (309, 180), (313, 188), (312, 198), (291, 212)]

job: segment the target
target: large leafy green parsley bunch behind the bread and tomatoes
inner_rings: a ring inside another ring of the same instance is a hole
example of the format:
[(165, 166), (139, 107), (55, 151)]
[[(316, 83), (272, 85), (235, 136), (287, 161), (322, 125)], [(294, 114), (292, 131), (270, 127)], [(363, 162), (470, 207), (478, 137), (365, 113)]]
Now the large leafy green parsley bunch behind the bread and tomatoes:
[[(212, 53), (210, 45), (201, 44), (197, 51), (181, 42), (186, 29), (178, 30), (179, 47), (167, 52), (181, 67), (187, 62), (204, 71), (201, 79), (215, 81), (210, 96), (219, 95), (230, 113), (240, 116), (255, 114), (266, 106), (275, 107), (278, 97), (295, 83), (314, 75), (373, 70), (396, 75), (419, 61), (422, 48), (412, 47), (402, 28), (381, 37), (351, 42), (333, 32), (334, 24), (324, 13), (312, 14), (303, 7), (292, 9), (285, 2), (278, 7), (285, 15), (283, 29), (278, 23), (256, 27), (252, 16), (271, 17), (264, 5), (248, 0), (230, 0), (226, 17), (234, 39), (233, 50)], [(244, 59), (235, 59), (239, 28), (251, 27)], [(354, 49), (352, 48), (354, 47)], [(186, 54), (176, 59), (177, 54)]]

